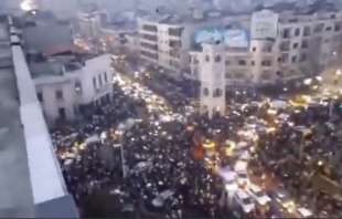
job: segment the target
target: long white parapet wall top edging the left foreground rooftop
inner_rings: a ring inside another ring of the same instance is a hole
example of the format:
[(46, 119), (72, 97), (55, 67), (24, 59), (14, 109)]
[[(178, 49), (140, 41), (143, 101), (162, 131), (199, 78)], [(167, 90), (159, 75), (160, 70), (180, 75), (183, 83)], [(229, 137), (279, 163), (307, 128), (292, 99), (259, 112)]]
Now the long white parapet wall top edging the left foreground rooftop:
[[(11, 41), (34, 204), (67, 195), (22, 48)], [(75, 217), (75, 216), (74, 216)]]

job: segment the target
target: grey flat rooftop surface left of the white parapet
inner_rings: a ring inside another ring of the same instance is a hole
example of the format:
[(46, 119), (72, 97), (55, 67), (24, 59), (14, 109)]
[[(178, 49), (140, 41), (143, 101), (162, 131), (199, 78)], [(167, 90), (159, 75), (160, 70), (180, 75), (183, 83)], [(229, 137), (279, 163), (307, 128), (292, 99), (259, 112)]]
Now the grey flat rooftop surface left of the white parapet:
[[(9, 35), (3, 23), (0, 23), (0, 41), (1, 56), (10, 55), (10, 45), (4, 45)], [(0, 217), (33, 217), (28, 153), (12, 67), (0, 69)]]

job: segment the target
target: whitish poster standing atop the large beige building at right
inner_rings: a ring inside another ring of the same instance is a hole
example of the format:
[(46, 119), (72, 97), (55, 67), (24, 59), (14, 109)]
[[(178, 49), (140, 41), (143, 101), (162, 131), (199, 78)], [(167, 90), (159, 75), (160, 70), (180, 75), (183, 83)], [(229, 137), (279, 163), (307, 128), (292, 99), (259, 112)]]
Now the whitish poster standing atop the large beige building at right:
[(252, 15), (252, 39), (275, 39), (278, 34), (278, 14), (270, 10), (254, 12)]

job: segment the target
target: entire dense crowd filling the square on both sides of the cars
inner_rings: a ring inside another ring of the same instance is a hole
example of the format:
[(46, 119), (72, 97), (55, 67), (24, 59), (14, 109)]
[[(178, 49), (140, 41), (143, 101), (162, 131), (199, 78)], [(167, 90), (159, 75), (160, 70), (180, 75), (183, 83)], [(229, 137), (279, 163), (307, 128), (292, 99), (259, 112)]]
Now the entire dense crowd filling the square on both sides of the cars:
[[(324, 182), (336, 181), (335, 186), (342, 179), (341, 117), (338, 111), (331, 112), (330, 104), (281, 109), (274, 116), (287, 116), (275, 123), (265, 113), (269, 106), (260, 106), (260, 98), (238, 93), (225, 116), (210, 119), (192, 112), (186, 119), (161, 119), (158, 114), (168, 111), (164, 115), (170, 117), (170, 108), (161, 100), (147, 98), (151, 91), (137, 95), (147, 87), (129, 86), (122, 90), (119, 83), (114, 84), (109, 102), (88, 106), (83, 119), (61, 123), (52, 131), (67, 188), (83, 216), (225, 217), (227, 212), (218, 201), (224, 181), (207, 168), (206, 155), (199, 155), (197, 143), (212, 139), (220, 146), (218, 166), (231, 165), (232, 157), (224, 153), (225, 140), (242, 140), (238, 131), (252, 117), (277, 127), (276, 132), (258, 133), (254, 164), (274, 173), (298, 202), (310, 209), (313, 206), (314, 212), (339, 216), (341, 202), (329, 195), (335, 190), (323, 190), (327, 185), (314, 182), (325, 177), (329, 180)], [(189, 104), (189, 98), (171, 100), (178, 100), (171, 101), (171, 106)], [(118, 134), (120, 124), (129, 119), (135, 123)], [(312, 198), (318, 196), (322, 198)]]

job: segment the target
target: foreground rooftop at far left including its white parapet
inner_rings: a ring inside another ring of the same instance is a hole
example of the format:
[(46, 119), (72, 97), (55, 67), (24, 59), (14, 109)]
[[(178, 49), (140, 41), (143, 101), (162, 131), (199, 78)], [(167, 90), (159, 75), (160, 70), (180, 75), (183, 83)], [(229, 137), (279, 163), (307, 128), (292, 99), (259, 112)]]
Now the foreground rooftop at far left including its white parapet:
[(76, 218), (11, 18), (0, 44), (0, 217)]

